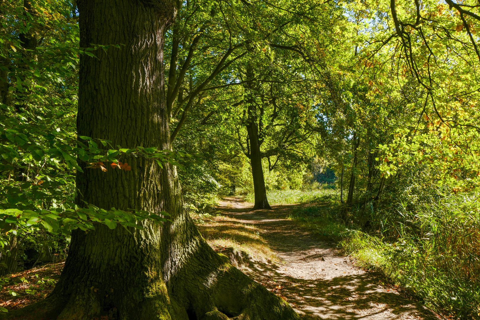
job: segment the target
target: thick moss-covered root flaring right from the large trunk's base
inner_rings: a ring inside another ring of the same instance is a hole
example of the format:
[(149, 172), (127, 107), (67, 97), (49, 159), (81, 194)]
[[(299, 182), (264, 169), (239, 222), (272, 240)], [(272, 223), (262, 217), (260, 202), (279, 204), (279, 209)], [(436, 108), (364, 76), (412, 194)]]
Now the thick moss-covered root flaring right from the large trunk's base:
[(205, 251), (204, 264), (189, 263), (169, 286), (170, 297), (183, 305), (189, 319), (300, 319), (286, 301), (230, 265), (226, 256)]

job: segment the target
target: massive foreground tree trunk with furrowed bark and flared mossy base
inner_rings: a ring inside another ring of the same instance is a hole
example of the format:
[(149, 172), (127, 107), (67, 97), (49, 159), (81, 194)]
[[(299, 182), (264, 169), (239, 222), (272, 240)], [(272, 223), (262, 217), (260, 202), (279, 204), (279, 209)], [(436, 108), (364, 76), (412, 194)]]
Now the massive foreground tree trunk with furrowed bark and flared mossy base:
[[(163, 45), (175, 3), (78, 0), (81, 47), (121, 44), (82, 56), (78, 133), (122, 147), (170, 149)], [(97, 225), (77, 230), (53, 293), (3, 317), (57, 320), (299, 319), (279, 297), (216, 254), (183, 209), (176, 169), (125, 158), (132, 171), (84, 168), (79, 204), (167, 211), (171, 222), (144, 231)], [(85, 166), (85, 164), (83, 164)]]

